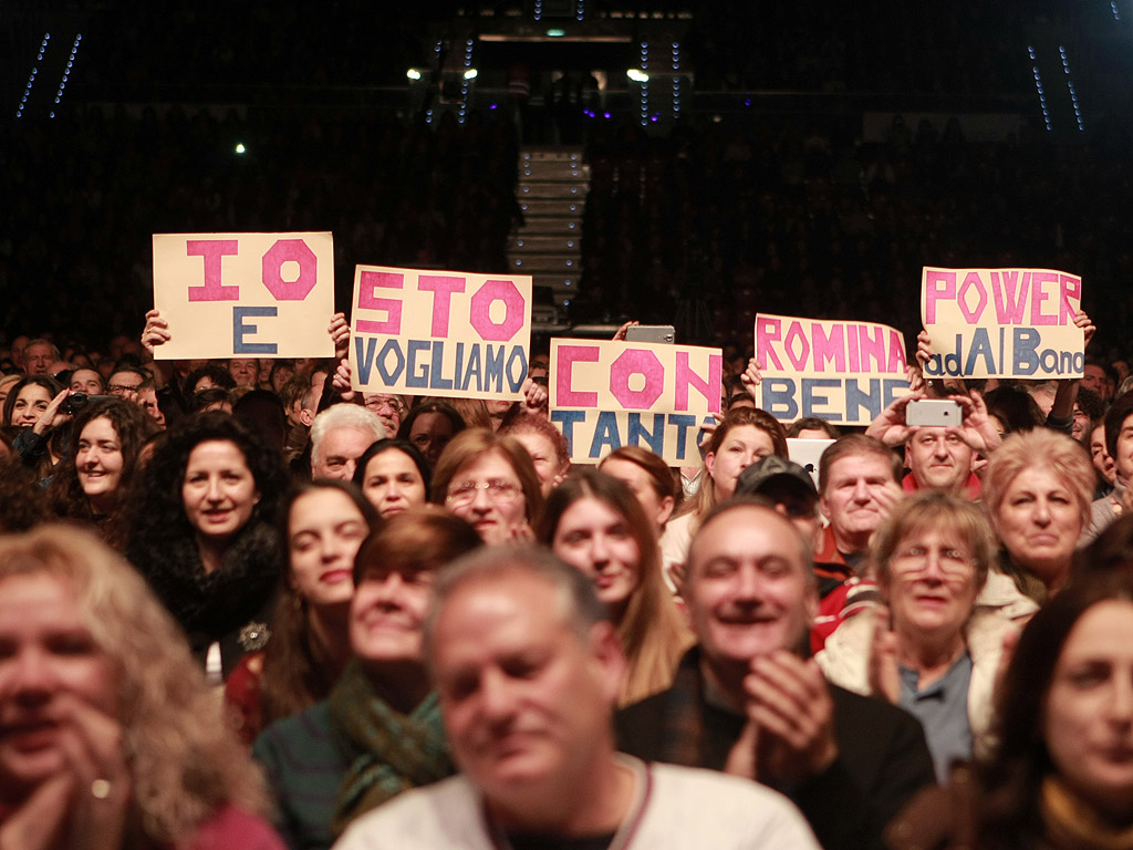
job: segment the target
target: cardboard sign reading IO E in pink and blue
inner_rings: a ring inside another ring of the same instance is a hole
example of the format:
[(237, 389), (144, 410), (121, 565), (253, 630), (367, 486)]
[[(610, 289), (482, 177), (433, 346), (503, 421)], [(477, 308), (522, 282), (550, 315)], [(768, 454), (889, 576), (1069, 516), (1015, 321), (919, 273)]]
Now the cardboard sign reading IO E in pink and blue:
[(160, 360), (331, 357), (331, 235), (154, 233), (153, 305)]

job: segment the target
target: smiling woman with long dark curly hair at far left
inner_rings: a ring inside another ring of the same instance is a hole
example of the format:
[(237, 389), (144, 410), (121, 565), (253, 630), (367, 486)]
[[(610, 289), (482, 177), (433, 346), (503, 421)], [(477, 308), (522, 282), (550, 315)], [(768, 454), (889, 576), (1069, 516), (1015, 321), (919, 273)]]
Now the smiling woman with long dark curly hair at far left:
[(156, 430), (151, 416), (122, 399), (83, 408), (71, 425), (67, 459), (48, 488), (56, 515), (91, 522), (113, 543), (114, 520), (138, 469), (138, 452)]

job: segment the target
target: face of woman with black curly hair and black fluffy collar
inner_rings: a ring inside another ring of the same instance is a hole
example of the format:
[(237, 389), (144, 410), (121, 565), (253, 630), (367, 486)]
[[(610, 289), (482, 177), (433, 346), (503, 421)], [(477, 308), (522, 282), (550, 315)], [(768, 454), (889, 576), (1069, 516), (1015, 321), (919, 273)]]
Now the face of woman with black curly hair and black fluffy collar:
[(244, 452), (231, 440), (206, 440), (189, 452), (181, 501), (197, 536), (227, 542), (244, 528), (259, 501)]

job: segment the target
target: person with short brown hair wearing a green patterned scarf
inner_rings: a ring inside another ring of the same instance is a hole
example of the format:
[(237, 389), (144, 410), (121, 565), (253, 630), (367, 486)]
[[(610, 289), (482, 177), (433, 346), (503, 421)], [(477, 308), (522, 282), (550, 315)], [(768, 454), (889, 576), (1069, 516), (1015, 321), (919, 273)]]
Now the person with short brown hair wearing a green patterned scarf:
[(425, 671), (433, 575), (482, 545), (433, 505), (385, 520), (358, 550), (350, 605), (355, 658), (330, 696), (256, 739), (292, 848), (329, 848), (358, 815), (453, 772)]

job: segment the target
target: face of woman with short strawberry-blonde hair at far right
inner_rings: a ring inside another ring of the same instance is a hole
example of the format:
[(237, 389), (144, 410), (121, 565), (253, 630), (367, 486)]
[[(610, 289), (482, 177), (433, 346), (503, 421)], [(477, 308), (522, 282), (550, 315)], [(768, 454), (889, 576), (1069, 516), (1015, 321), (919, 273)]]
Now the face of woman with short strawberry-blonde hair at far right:
[(1007, 485), (991, 518), (1011, 558), (1048, 587), (1066, 577), (1082, 515), (1073, 491), (1051, 470), (1031, 466)]

